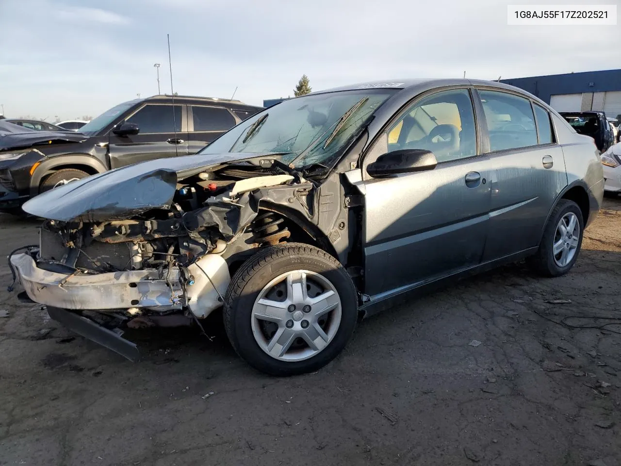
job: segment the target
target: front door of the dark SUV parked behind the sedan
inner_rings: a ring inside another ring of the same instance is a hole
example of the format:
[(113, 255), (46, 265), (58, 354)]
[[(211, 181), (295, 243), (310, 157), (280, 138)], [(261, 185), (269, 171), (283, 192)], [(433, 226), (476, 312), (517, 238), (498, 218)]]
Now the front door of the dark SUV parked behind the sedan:
[(111, 168), (154, 158), (176, 157), (188, 154), (188, 132), (184, 105), (146, 104), (125, 121), (138, 125), (136, 135), (109, 135)]

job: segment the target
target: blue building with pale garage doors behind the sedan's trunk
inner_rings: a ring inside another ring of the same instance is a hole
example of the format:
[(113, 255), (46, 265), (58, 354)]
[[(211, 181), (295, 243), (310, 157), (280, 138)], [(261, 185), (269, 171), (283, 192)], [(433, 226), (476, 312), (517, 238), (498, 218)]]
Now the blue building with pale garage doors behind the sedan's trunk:
[(501, 80), (534, 94), (556, 111), (598, 110), (608, 117), (621, 114), (621, 70)]

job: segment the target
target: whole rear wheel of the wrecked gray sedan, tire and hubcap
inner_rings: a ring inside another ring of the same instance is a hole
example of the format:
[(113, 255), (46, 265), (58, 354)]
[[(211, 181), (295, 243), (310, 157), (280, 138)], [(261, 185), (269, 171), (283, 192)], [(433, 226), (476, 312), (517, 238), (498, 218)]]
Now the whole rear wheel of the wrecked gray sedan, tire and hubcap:
[(543, 276), (561, 276), (578, 259), (584, 234), (584, 220), (578, 204), (561, 199), (552, 209), (537, 253), (528, 260)]

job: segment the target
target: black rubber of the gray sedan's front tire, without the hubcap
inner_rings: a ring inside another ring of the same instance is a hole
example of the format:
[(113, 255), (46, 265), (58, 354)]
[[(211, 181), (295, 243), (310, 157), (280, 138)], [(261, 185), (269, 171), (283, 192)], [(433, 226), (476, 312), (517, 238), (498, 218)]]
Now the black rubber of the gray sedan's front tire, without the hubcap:
[[(309, 270), (329, 280), (341, 301), (341, 321), (333, 339), (316, 355), (297, 362), (271, 357), (256, 342), (252, 331), (252, 309), (263, 288), (279, 275)], [(224, 300), (224, 326), (233, 348), (252, 367), (269, 375), (291, 376), (314, 372), (345, 348), (358, 321), (358, 298), (350, 276), (326, 252), (299, 243), (268, 247), (253, 255), (232, 278)]]

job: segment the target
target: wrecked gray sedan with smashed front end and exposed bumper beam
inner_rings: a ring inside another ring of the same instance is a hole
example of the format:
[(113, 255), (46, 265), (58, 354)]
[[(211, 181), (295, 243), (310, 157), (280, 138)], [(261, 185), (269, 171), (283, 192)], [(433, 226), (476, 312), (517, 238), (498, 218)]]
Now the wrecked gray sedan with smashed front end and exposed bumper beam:
[(599, 152), (500, 83), (403, 80), (289, 99), (197, 155), (90, 176), (24, 204), (22, 298), (125, 357), (127, 327), (222, 308), (250, 365), (312, 372), (395, 298), (527, 258), (568, 272), (602, 200)]

